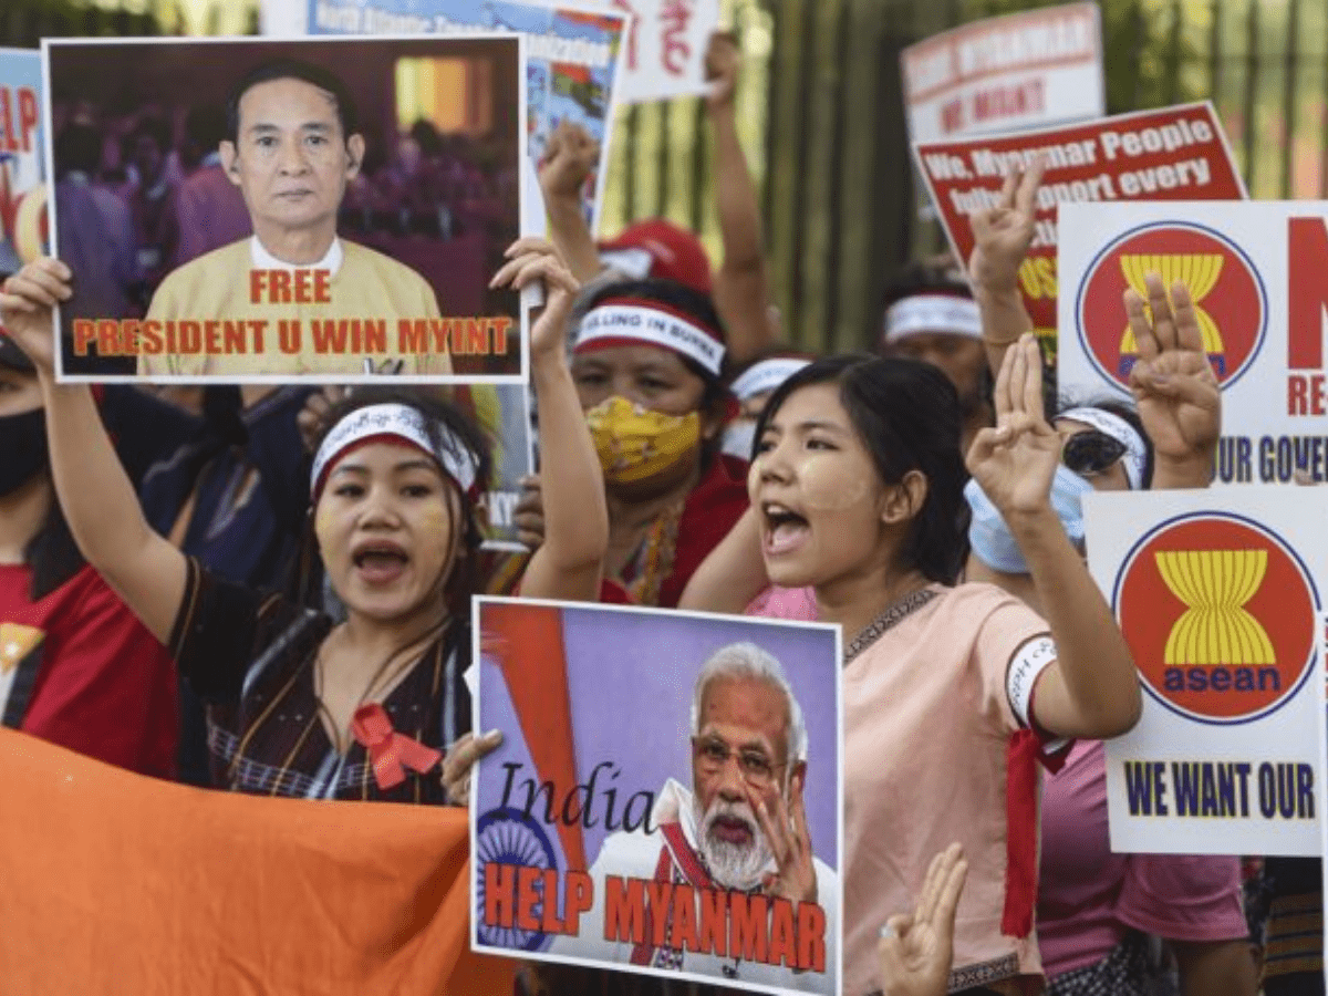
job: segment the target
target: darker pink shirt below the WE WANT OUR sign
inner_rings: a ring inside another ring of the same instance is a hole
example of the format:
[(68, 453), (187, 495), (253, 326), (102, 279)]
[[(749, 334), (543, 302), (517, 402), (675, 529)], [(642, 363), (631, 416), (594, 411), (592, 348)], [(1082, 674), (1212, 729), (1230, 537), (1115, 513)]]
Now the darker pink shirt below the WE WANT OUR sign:
[(1037, 936), (1048, 977), (1106, 957), (1131, 927), (1199, 942), (1248, 932), (1236, 858), (1112, 854), (1100, 741), (1076, 744), (1042, 785), (1040, 878)]

